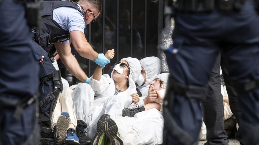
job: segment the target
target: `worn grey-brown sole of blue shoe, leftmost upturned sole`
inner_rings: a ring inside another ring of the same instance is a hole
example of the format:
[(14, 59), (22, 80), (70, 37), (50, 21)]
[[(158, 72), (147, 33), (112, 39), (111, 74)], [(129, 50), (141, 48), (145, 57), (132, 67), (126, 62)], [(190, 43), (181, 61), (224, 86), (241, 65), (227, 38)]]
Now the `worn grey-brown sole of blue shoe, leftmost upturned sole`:
[(56, 124), (56, 131), (57, 131), (57, 140), (56, 144), (61, 145), (65, 143), (66, 139), (66, 131), (70, 124), (70, 117), (68, 113), (61, 113), (58, 117), (58, 121)]

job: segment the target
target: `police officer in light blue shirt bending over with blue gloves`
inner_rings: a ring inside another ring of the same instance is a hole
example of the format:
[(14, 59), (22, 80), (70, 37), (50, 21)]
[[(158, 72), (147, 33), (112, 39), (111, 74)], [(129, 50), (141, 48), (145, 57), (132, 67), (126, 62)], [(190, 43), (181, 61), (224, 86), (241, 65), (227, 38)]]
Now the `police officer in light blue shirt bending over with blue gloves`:
[[(103, 53), (96, 53), (87, 42), (84, 29), (86, 25), (96, 21), (102, 11), (101, 0), (69, 0), (43, 1), (41, 27), (34, 31), (34, 52), (39, 57), (39, 122), (45, 128), (50, 127), (50, 117), (55, 108), (58, 94), (63, 85), (59, 70), (55, 70), (51, 46), (55, 48), (68, 71), (82, 82), (90, 79), (80, 68), (76, 58), (71, 54), (70, 43), (77, 53), (104, 67), (109, 63)], [(45, 131), (49, 134), (52, 131)], [(48, 137), (48, 136), (46, 136)]]

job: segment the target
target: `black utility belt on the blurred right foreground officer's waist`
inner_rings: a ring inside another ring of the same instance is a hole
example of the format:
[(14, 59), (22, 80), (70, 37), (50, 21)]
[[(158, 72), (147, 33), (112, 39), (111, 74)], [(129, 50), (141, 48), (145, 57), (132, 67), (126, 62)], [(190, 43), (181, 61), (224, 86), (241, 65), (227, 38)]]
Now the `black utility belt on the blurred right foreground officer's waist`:
[[(249, 0), (177, 0), (174, 7), (181, 12), (212, 12), (217, 9), (229, 13), (240, 11), (246, 1)], [(259, 0), (254, 1), (258, 8)]]

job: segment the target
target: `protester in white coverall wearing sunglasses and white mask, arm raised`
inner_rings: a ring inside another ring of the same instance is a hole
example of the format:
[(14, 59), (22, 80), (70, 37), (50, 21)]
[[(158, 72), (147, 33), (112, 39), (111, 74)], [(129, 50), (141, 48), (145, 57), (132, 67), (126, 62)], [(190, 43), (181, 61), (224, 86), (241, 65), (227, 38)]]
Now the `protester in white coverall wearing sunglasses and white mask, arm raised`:
[[(113, 53), (114, 51), (111, 51)], [(113, 56), (112, 56), (113, 57)], [(92, 140), (97, 132), (96, 124), (101, 115), (108, 113), (120, 115), (124, 106), (131, 103), (130, 94), (136, 91), (135, 80), (141, 66), (136, 58), (124, 58), (114, 67), (111, 77), (101, 74), (102, 68), (96, 67), (90, 83), (79, 83), (72, 97), (77, 117), (77, 130), (86, 131), (85, 141)], [(120, 109), (119, 109), (120, 108)], [(120, 110), (120, 111), (118, 111)]]

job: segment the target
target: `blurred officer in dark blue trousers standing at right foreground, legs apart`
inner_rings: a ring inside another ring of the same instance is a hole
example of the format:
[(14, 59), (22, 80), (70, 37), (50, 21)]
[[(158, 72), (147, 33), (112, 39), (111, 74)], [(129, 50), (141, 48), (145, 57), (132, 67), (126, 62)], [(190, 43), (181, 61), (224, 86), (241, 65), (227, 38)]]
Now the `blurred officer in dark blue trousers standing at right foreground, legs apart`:
[[(173, 3), (175, 4), (175, 3)], [(164, 99), (163, 144), (197, 144), (201, 102), (221, 51), (238, 91), (245, 144), (259, 141), (258, 0), (177, 0), (174, 44), (166, 51), (171, 73)]]

